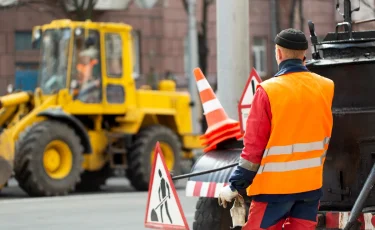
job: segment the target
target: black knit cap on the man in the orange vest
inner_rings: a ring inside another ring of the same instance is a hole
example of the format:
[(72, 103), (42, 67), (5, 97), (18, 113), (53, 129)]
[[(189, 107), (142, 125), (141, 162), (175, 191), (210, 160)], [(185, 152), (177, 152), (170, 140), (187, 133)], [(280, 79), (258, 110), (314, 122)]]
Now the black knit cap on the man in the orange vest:
[(308, 42), (305, 34), (296, 29), (285, 29), (276, 35), (275, 43), (291, 50), (307, 50)]

